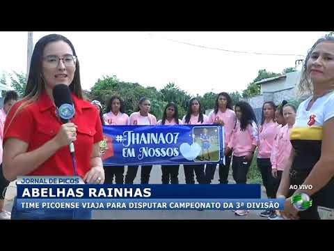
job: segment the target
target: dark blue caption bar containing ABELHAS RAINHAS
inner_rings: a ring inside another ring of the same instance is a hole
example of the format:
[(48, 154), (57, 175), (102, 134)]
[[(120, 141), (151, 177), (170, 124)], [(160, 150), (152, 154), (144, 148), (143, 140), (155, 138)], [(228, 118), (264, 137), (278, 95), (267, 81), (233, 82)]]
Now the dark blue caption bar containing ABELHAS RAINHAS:
[(249, 185), (26, 185), (17, 199), (260, 199), (261, 187)]

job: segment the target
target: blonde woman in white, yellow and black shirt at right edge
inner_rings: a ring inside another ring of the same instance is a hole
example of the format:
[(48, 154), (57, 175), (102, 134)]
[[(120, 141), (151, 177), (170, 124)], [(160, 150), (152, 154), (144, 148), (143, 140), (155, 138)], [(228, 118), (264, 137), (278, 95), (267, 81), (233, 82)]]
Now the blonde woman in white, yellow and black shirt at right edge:
[[(280, 211), (283, 218), (319, 219), (317, 206), (334, 208), (333, 37), (320, 38), (308, 52), (300, 89), (312, 92), (312, 96), (297, 110), (296, 123), (290, 132), (293, 149), (277, 197), (287, 197), (284, 210)], [(295, 203), (301, 193), (306, 198), (303, 208)], [(312, 206), (308, 199), (312, 199)]]

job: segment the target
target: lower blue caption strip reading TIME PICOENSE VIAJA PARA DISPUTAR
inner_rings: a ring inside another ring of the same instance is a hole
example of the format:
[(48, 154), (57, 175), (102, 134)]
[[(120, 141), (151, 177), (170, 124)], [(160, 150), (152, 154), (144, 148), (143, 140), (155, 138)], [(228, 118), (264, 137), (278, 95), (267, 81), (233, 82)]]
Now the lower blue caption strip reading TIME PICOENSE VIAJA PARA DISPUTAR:
[(17, 210), (282, 210), (284, 203), (284, 199), (17, 199)]

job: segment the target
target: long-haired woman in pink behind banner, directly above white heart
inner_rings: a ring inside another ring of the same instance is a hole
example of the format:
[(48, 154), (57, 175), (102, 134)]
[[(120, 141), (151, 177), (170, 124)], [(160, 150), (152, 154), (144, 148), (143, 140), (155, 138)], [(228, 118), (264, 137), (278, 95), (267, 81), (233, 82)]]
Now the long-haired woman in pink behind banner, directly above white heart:
[[(186, 115), (182, 119), (184, 125), (200, 125), (209, 124), (209, 118), (202, 113), (200, 107), (200, 101), (197, 98), (191, 98), (189, 100), (189, 107)], [(196, 173), (196, 179), (199, 184), (205, 184), (205, 165), (183, 165), (184, 176), (186, 177), (186, 184), (195, 184), (194, 174)]]

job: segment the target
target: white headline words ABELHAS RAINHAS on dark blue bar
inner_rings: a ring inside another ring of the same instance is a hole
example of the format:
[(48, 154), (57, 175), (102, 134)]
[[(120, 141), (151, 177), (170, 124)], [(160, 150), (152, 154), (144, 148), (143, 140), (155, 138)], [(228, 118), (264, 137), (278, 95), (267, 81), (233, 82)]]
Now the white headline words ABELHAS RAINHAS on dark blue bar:
[(148, 198), (151, 188), (24, 188), (22, 198)]

